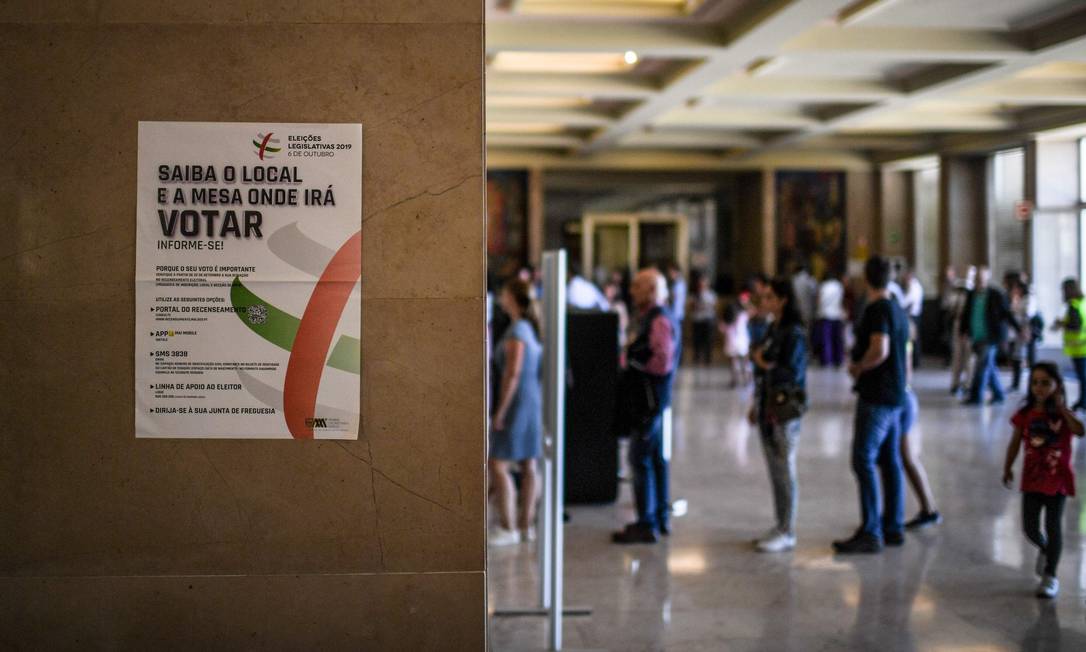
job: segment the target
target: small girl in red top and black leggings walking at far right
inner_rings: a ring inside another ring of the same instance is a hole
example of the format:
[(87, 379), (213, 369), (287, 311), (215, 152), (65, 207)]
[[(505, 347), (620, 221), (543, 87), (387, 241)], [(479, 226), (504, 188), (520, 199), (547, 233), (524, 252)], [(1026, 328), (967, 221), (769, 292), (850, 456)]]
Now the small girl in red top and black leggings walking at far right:
[[(1030, 393), (1025, 404), (1011, 417), (1014, 435), (1007, 447), (1003, 485), (1014, 480), (1014, 460), (1025, 449), (1022, 462), (1022, 528), (1039, 549), (1038, 598), (1056, 598), (1060, 581), (1056, 568), (1063, 549), (1061, 521), (1063, 504), (1075, 494), (1075, 474), (1071, 469), (1071, 436), (1083, 436), (1083, 423), (1068, 409), (1060, 368), (1051, 362), (1038, 362), (1030, 371)], [(1045, 532), (1040, 531), (1040, 512), (1045, 512)]]

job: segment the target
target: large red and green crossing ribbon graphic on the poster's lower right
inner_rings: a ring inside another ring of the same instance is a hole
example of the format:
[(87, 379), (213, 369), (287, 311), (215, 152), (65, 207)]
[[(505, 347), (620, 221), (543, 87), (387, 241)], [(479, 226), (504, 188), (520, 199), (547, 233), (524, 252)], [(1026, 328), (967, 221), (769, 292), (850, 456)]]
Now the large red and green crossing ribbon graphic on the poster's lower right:
[[(282, 408), (294, 439), (313, 439), (313, 427), (306, 419), (312, 421), (314, 416), (325, 366), (359, 373), (358, 339), (340, 336), (333, 348), (332, 337), (351, 290), (361, 277), (362, 231), (358, 231), (339, 248), (325, 267), (302, 318), (264, 301), (238, 277), (230, 287), (230, 302), (241, 322), (265, 340), (290, 351)], [(260, 306), (263, 318), (247, 318), (253, 306)]]

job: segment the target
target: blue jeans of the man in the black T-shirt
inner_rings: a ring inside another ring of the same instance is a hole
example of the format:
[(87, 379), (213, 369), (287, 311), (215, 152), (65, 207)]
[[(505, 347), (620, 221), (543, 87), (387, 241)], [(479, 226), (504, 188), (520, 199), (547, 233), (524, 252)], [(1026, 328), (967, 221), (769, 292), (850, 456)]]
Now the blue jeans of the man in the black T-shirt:
[[(860, 486), (861, 531), (882, 539), (905, 527), (905, 478), (901, 471), (901, 411), (899, 405), (856, 404), (853, 432), (853, 472)], [(875, 467), (882, 472), (882, 491)], [(885, 506), (885, 509), (881, 509)]]

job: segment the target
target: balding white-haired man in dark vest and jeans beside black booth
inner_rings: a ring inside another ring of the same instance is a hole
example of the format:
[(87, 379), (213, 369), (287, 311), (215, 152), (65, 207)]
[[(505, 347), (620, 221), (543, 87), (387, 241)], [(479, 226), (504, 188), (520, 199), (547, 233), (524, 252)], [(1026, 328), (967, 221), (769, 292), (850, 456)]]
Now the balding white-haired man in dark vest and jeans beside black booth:
[(623, 404), (637, 405), (630, 415), (630, 467), (637, 521), (615, 532), (616, 543), (655, 543), (657, 532), (669, 535), (668, 461), (664, 457), (664, 411), (671, 404), (678, 328), (665, 306), (667, 279), (653, 268), (633, 277), (630, 294), (640, 315), (636, 338), (627, 348), (632, 383), (624, 391), (648, 390), (651, 397)]

